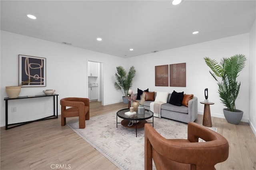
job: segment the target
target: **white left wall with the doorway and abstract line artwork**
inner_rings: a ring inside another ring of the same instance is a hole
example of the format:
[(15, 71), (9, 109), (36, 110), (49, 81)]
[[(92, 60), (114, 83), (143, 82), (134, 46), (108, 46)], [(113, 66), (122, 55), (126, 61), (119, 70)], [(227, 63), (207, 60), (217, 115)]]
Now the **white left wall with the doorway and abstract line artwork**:
[[(20, 96), (39, 95), (43, 94), (42, 91), (45, 89), (55, 89), (59, 94), (59, 100), (64, 97), (88, 97), (87, 61), (89, 60), (103, 63), (104, 105), (122, 101), (121, 93), (114, 89), (113, 84), (116, 66), (125, 63), (124, 58), (1, 31), (0, 126), (5, 125), (5, 103), (2, 101), (7, 97), (5, 86), (18, 85), (19, 54), (45, 57), (47, 76), (46, 87), (23, 87)], [(10, 102), (9, 108), (17, 107), (17, 112), (9, 112), (9, 123), (28, 120), (35, 114), (33, 108), (41, 107), (39, 103), (41, 105), (52, 103), (51, 99), (35, 100), (38, 101), (38, 106), (37, 103), (26, 105), (31, 102), (23, 99)], [(60, 105), (58, 111), (60, 113)], [(40, 112), (38, 116), (49, 114), (47, 109), (40, 109), (38, 112)], [(19, 120), (15, 120), (14, 115)]]

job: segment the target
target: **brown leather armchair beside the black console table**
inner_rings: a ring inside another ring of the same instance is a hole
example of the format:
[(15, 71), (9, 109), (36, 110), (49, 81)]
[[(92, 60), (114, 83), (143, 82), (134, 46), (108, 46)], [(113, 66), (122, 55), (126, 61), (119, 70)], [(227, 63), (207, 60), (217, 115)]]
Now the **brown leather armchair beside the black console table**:
[[(61, 126), (66, 125), (66, 117), (79, 117), (79, 128), (85, 128), (85, 120), (90, 119), (88, 98), (67, 97), (60, 100)], [(66, 109), (66, 107), (70, 107)]]

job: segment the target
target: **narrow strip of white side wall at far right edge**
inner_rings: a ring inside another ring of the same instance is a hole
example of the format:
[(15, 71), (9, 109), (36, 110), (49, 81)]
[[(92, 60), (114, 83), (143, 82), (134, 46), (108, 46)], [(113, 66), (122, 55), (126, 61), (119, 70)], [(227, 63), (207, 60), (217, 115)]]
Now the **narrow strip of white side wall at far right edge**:
[(250, 115), (249, 123), (256, 135), (256, 21), (250, 30), (250, 83), (249, 83), (249, 102)]

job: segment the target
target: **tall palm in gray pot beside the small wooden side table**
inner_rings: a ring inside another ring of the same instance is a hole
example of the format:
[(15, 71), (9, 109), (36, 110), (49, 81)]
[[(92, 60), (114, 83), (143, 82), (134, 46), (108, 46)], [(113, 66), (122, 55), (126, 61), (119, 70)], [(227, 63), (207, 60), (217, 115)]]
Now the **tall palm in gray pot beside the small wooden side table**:
[[(238, 73), (245, 67), (246, 57), (239, 54), (229, 58), (222, 58), (220, 64), (215, 59), (204, 57), (206, 65), (212, 70), (209, 71), (212, 77), (218, 82), (218, 93), (220, 101), (227, 108), (223, 109), (224, 116), (228, 123), (238, 124), (243, 111), (236, 109), (236, 98), (238, 96), (241, 82), (236, 81)], [(220, 77), (220, 80), (217, 79)]]

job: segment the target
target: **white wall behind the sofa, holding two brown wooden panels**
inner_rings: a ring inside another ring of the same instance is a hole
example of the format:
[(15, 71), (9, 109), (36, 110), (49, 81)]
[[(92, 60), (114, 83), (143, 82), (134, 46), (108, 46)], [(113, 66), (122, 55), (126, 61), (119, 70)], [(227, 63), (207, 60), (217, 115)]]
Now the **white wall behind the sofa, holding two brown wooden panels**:
[[(218, 97), (218, 86), (210, 75), (208, 66), (204, 62), (204, 57), (210, 57), (220, 61), (222, 57), (230, 57), (235, 54), (244, 54), (249, 59), (249, 34), (232, 36), (210, 42), (198, 43), (194, 45), (179, 47), (129, 58), (129, 64), (134, 65), (137, 75), (134, 78), (132, 90), (137, 88), (149, 91), (169, 91), (173, 90), (186, 94), (194, 94), (198, 97), (198, 112), (203, 114), (204, 89), (208, 88), (208, 100), (214, 102), (210, 106), (211, 115), (224, 118), (225, 107), (220, 103)], [(186, 87), (156, 87), (155, 86), (155, 66), (186, 63)], [(244, 111), (242, 121), (249, 119), (249, 61), (246, 67), (240, 72), (238, 81), (241, 81), (240, 93), (236, 101), (236, 109)], [(255, 86), (254, 86), (255, 87)], [(255, 102), (255, 100), (254, 100)]]

